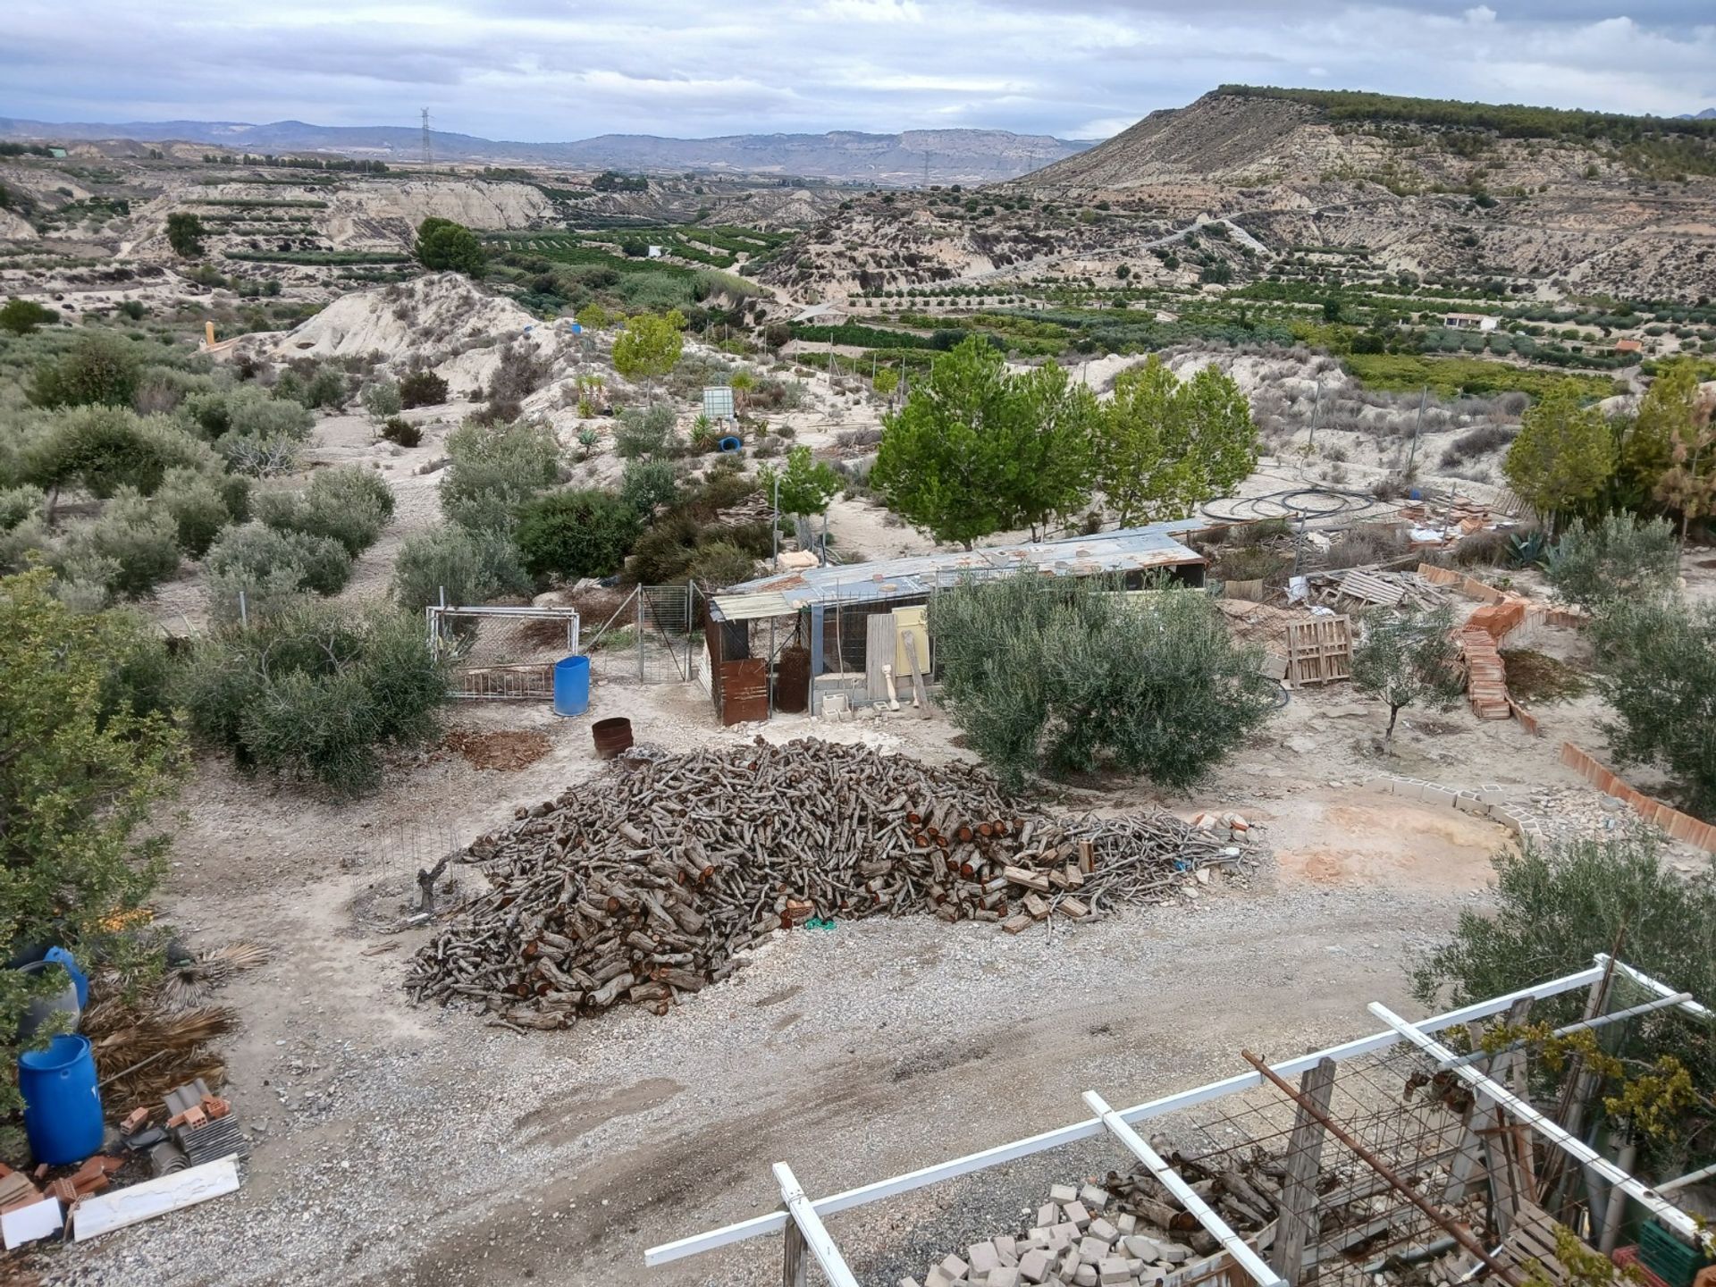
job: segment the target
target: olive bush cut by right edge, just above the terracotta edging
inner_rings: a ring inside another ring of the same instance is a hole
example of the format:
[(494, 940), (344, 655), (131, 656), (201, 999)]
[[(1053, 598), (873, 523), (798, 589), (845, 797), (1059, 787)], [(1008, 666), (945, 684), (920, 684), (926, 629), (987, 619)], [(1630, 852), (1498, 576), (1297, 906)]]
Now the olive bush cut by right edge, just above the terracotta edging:
[(1678, 597), (1599, 601), (1592, 619), (1604, 724), (1625, 764), (1666, 770), (1689, 812), (1716, 817), (1716, 607)]

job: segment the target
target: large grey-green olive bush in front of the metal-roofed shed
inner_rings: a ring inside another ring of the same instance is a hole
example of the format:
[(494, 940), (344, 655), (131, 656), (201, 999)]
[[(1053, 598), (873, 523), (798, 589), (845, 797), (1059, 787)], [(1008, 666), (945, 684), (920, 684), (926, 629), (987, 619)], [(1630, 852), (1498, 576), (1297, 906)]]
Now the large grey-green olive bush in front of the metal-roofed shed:
[(1009, 786), (1035, 772), (1145, 772), (1184, 788), (1268, 719), (1275, 685), (1203, 594), (1035, 573), (930, 601), (942, 692)]

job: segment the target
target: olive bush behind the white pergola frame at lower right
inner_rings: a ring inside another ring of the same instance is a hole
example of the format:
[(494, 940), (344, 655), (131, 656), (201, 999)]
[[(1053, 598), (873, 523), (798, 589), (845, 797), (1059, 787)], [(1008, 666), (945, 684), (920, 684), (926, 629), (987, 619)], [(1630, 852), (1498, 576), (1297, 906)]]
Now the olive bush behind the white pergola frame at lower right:
[[(1527, 844), (1522, 853), (1503, 849), (1495, 856), (1495, 894), (1481, 908), (1460, 911), (1453, 935), (1412, 963), (1412, 992), (1428, 1006), (1440, 1000), (1464, 1006), (1505, 995), (1544, 978), (1584, 970), (1596, 952), (1623, 956), (1639, 970), (1671, 980), (1709, 1002), (1716, 997), (1716, 882), (1709, 873), (1687, 879), (1663, 861), (1656, 841), (1644, 829), (1604, 839)], [(1610, 1011), (1649, 1000), (1647, 994), (1615, 975), (1616, 995)], [(1531, 1021), (1553, 1028), (1584, 1018), (1586, 990), (1538, 1000)], [(1687, 1023), (1675, 1011), (1663, 1011), (1628, 1024), (1620, 1057), (1623, 1078), (1640, 1072), (1663, 1074), (1668, 1057), (1692, 1076), (1694, 1095), (1671, 1110), (1668, 1129), (1658, 1136), (1639, 1134), (1644, 1174), (1678, 1174), (1683, 1133), (1707, 1121), (1716, 1095), (1716, 1048), (1709, 1024)], [(1551, 1064), (1532, 1059), (1546, 1078), (1544, 1102), (1562, 1095), (1555, 1079), (1565, 1069), (1589, 1071), (1591, 1064)], [(1613, 1083), (1603, 1088), (1618, 1093)], [(1665, 1170), (1666, 1167), (1666, 1170)]]

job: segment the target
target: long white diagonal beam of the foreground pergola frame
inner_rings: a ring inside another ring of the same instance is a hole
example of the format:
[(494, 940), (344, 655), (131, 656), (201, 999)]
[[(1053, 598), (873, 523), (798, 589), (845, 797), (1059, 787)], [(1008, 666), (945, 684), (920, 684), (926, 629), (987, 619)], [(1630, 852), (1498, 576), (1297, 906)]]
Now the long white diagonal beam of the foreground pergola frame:
[[(1649, 975), (1628, 966), (1625, 961), (1613, 961), (1608, 956), (1598, 956), (1596, 964), (1579, 970), (1572, 975), (1563, 975), (1560, 978), (1551, 978), (1546, 983), (1536, 983), (1532, 987), (1519, 988), (1517, 992), (1508, 992), (1502, 997), (1489, 997), (1488, 1000), (1472, 1002), (1471, 1006), (1460, 1006), (1459, 1009), (1447, 1011), (1443, 1014), (1421, 1019), (1416, 1024), (1405, 1024), (1417, 1036), (1426, 1033), (1436, 1033), (1443, 1028), (1453, 1028), (1455, 1024), (1472, 1023), (1476, 1019), (1486, 1019), (1495, 1014), (1508, 1011), (1517, 1000), (1543, 1000), (1546, 997), (1558, 997), (1567, 992), (1574, 992), (1582, 987), (1601, 982), (1610, 970), (1625, 973), (1640, 987), (1654, 992), (1661, 999), (1678, 999), (1680, 994), (1661, 983)], [(1683, 1012), (1711, 1019), (1716, 1018), (1709, 1009), (1695, 1000), (1673, 1000)], [(1399, 1023), (1405, 1023), (1400, 1019)], [(1299, 1055), (1297, 1059), (1284, 1059), (1278, 1064), (1270, 1064), (1270, 1067), (1282, 1078), (1296, 1078), (1301, 1072), (1316, 1067), (1323, 1059), (1356, 1059), (1361, 1055), (1376, 1054), (1378, 1050), (1387, 1050), (1400, 1042), (1416, 1040), (1409, 1036), (1400, 1028), (1390, 1024), (1387, 1031), (1373, 1033), (1369, 1036), (1361, 1036), (1342, 1045), (1330, 1047), (1326, 1050), (1316, 1050), (1308, 1055)], [(1447, 1047), (1438, 1047), (1447, 1048)], [(1448, 1059), (1459, 1059), (1452, 1050), (1447, 1054)], [(1481, 1076), (1481, 1074), (1479, 1074)], [(1006, 1145), (997, 1145), (995, 1148), (985, 1148), (978, 1153), (968, 1153), (951, 1162), (939, 1162), (932, 1167), (921, 1167), (918, 1170), (906, 1172), (904, 1175), (894, 1175), (892, 1179), (877, 1181), (873, 1184), (863, 1184), (856, 1189), (846, 1189), (843, 1193), (829, 1194), (827, 1198), (817, 1198), (808, 1201), (808, 1211), (815, 1217), (829, 1217), (839, 1211), (848, 1211), (855, 1206), (865, 1206), (867, 1203), (882, 1201), (884, 1198), (897, 1198), (903, 1193), (911, 1193), (921, 1189), (928, 1184), (939, 1184), (942, 1181), (958, 1179), (959, 1175), (970, 1175), (976, 1170), (987, 1170), (990, 1167), (999, 1167), (1007, 1162), (1016, 1162), (1023, 1157), (1031, 1157), (1033, 1153), (1043, 1153), (1050, 1148), (1060, 1148), (1062, 1145), (1074, 1145), (1081, 1139), (1093, 1139), (1105, 1131), (1112, 1133), (1114, 1126), (1110, 1119), (1131, 1126), (1136, 1122), (1150, 1121), (1151, 1117), (1162, 1117), (1170, 1112), (1181, 1112), (1184, 1109), (1198, 1107), (1199, 1103), (1208, 1103), (1210, 1100), (1218, 1100), (1227, 1095), (1237, 1095), (1239, 1091), (1251, 1090), (1263, 1085), (1263, 1074), (1256, 1071), (1239, 1072), (1236, 1076), (1225, 1078), (1222, 1081), (1211, 1081), (1206, 1086), (1196, 1086), (1193, 1090), (1177, 1091), (1174, 1095), (1163, 1095), (1162, 1098), (1148, 1100), (1146, 1103), (1138, 1103), (1131, 1109), (1114, 1109), (1107, 1110), (1107, 1115), (1090, 1117), (1083, 1122), (1074, 1122), (1072, 1126), (1062, 1126), (1054, 1131), (1045, 1131), (1042, 1134), (1033, 1134), (1026, 1139), (1014, 1139)], [(1527, 1105), (1529, 1107), (1529, 1105)], [(1122, 1139), (1124, 1143), (1124, 1139)], [(1577, 1141), (1575, 1141), (1577, 1143)], [(1613, 1163), (1604, 1163), (1618, 1172)], [(1608, 1172), (1604, 1172), (1608, 1174)], [(1630, 1175), (1620, 1172), (1630, 1184), (1637, 1184)], [(1642, 1186), (1639, 1186), (1642, 1189)], [(1632, 1193), (1632, 1189), (1628, 1189)], [(1678, 1210), (1678, 1208), (1677, 1208)], [(645, 1265), (669, 1265), (676, 1260), (686, 1260), (688, 1256), (700, 1256), (705, 1251), (716, 1251), (719, 1248), (733, 1246), (734, 1242), (745, 1242), (753, 1237), (762, 1237), (765, 1234), (781, 1232), (789, 1220), (795, 1217), (788, 1211), (769, 1211), (767, 1215), (752, 1217), (750, 1220), (741, 1220), (738, 1224), (726, 1225), (722, 1229), (712, 1229), (704, 1234), (693, 1234), (692, 1237), (681, 1237), (674, 1242), (662, 1242), (661, 1246), (649, 1248), (644, 1253)], [(1678, 1227), (1678, 1225), (1677, 1225)], [(1213, 1232), (1213, 1230), (1211, 1230)], [(1232, 1232), (1232, 1230), (1229, 1230)], [(1273, 1280), (1273, 1278), (1272, 1278)], [(1263, 1282), (1263, 1280), (1260, 1280)]]

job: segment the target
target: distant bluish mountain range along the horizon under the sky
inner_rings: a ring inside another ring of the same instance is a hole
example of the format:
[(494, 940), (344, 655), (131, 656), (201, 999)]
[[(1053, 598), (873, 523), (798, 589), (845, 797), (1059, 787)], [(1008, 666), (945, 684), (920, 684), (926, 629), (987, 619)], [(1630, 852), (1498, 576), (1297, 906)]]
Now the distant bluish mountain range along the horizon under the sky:
[[(0, 137), (36, 142), (190, 142), (251, 153), (335, 153), (381, 161), (422, 156), (422, 130), (400, 125), (307, 125), (276, 120), (134, 120), (53, 124), (0, 117)], [(573, 142), (508, 142), (432, 130), (436, 161), (565, 165), (614, 170), (697, 170), (733, 175), (795, 175), (861, 184), (983, 184), (1016, 178), (1090, 148), (1095, 139), (1057, 139), (1007, 130), (906, 130), (903, 134), (728, 134), (662, 139), (602, 134)]]

